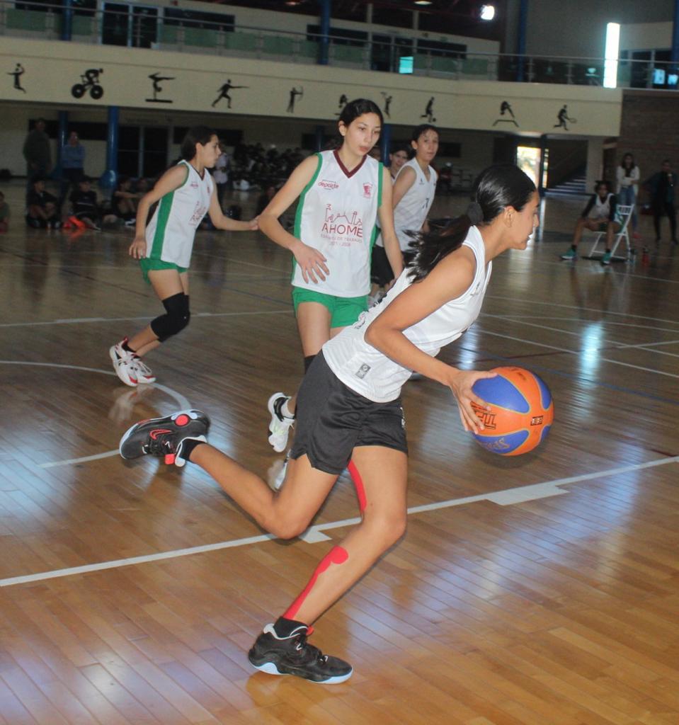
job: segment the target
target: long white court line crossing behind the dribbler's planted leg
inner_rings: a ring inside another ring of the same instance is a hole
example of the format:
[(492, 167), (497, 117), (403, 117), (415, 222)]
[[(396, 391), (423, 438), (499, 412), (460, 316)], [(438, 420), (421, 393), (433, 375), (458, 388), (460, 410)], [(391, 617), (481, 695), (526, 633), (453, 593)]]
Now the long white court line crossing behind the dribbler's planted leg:
[[(609, 468), (607, 471), (599, 471), (598, 473), (584, 473), (581, 476), (570, 476), (566, 479), (556, 479), (555, 481), (545, 481), (542, 484), (529, 484), (528, 486), (517, 486), (504, 491), (495, 491), (488, 494), (478, 494), (477, 496), (465, 496), (459, 499), (451, 499), (449, 501), (440, 501), (438, 503), (425, 504), (422, 506), (413, 506), (408, 509), (409, 515), (414, 513), (425, 513), (442, 508), (451, 508), (453, 506), (462, 506), (467, 503), (478, 501), (489, 501), (500, 506), (511, 506), (516, 503), (524, 503), (527, 501), (535, 501), (541, 498), (551, 496), (559, 496), (567, 494), (567, 491), (559, 489), (559, 486), (578, 483), (579, 481), (592, 481), (600, 479), (603, 476), (616, 476), (618, 473), (630, 473), (630, 471), (640, 471), (643, 468), (652, 468), (657, 465), (666, 465), (667, 463), (679, 463), (679, 456), (670, 458), (659, 458), (651, 460), (647, 463), (636, 463), (632, 465), (623, 465), (620, 468)], [(328, 541), (330, 537), (326, 536), (323, 531), (332, 529), (340, 529), (343, 526), (354, 526), (361, 522), (359, 517), (346, 518), (343, 521), (332, 521), (330, 523), (320, 523), (307, 529), (304, 534), (299, 537), (308, 544)], [(66, 569), (54, 569), (53, 571), (41, 571), (36, 574), (25, 574), (24, 576), (11, 576), (8, 579), (0, 579), (0, 587), (12, 587), (14, 584), (28, 584), (31, 581), (43, 581), (44, 579), (58, 579), (62, 576), (73, 576), (75, 574), (84, 574), (91, 571), (103, 571), (104, 569), (115, 569), (122, 566), (133, 566), (135, 564), (146, 564), (153, 561), (161, 561), (164, 559), (177, 559), (182, 556), (190, 556), (193, 554), (201, 554), (209, 551), (217, 551), (220, 549), (229, 549), (233, 547), (247, 546), (248, 544), (259, 544), (262, 542), (270, 542), (276, 537), (272, 534), (261, 534), (257, 537), (246, 537), (244, 539), (232, 539), (228, 542), (218, 542), (216, 544), (203, 544), (202, 546), (187, 547), (186, 549), (175, 549), (173, 551), (159, 552), (156, 554), (147, 554), (143, 556), (134, 556), (127, 559), (116, 559), (113, 561), (102, 561), (97, 564), (85, 564), (83, 566), (73, 566)]]

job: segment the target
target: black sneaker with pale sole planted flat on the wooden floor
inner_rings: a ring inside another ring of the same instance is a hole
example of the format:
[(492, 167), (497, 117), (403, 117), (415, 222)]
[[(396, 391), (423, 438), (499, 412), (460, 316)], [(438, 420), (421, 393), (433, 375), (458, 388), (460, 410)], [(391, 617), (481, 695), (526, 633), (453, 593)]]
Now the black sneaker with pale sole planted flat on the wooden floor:
[(320, 684), (339, 684), (354, 673), (348, 662), (309, 645), (309, 627), (280, 617), (267, 624), (248, 653), (254, 668), (270, 675), (296, 675)]

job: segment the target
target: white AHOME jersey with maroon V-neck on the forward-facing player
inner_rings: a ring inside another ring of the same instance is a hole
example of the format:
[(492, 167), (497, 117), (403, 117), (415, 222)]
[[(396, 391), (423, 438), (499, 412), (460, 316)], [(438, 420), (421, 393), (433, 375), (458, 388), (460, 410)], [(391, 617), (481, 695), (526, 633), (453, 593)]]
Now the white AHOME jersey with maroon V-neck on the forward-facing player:
[(360, 297), (370, 291), (370, 250), (382, 203), (382, 165), (370, 156), (352, 171), (336, 151), (318, 156), (316, 173), (297, 204), (294, 236), (315, 247), (330, 270), (325, 281), (305, 282), (293, 260), (292, 283), (335, 297)]

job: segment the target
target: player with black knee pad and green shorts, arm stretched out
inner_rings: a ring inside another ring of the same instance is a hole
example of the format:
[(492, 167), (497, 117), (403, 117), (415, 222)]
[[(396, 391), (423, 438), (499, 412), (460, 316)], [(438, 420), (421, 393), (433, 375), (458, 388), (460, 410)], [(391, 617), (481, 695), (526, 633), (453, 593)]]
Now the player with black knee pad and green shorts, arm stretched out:
[[(193, 237), (209, 214), (217, 229), (257, 229), (257, 220), (234, 221), (222, 214), (212, 177), (207, 172), (220, 156), (217, 134), (205, 126), (190, 128), (181, 146), (182, 160), (167, 170), (137, 208), (137, 225), (130, 256), (139, 260), (143, 276), (165, 308), (135, 336), (112, 345), (109, 355), (125, 385), (153, 383), (153, 373), (141, 358), (188, 325), (188, 267)], [(159, 202), (149, 225), (151, 205)]]

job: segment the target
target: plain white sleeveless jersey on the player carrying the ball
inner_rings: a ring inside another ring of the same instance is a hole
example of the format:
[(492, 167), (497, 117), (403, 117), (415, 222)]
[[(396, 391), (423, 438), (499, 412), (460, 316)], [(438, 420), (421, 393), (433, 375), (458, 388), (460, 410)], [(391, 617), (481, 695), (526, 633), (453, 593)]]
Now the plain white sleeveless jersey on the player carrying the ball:
[[(403, 331), (412, 344), (432, 357), (438, 355), (441, 347), (457, 340), (478, 317), (491, 278), (492, 262), (486, 265), (486, 248), (475, 226), (470, 227), (463, 244), (470, 247), (476, 257), (474, 279), (467, 291)], [(357, 323), (345, 328), (322, 347), (330, 369), (343, 384), (374, 402), (389, 402), (399, 397), (401, 386), (410, 377), (412, 370), (404, 368), (368, 344), (365, 331), (372, 320), (411, 283), (406, 269), (379, 305), (364, 312)]]

